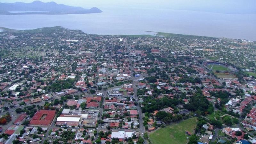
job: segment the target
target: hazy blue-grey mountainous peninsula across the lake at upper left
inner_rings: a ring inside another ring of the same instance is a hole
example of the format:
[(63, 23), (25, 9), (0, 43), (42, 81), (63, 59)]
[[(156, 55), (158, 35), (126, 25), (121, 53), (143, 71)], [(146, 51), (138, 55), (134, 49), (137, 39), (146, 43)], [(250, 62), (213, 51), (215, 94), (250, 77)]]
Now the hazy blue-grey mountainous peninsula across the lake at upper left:
[[(12, 12), (15, 11), (15, 12)], [(84, 9), (82, 7), (68, 6), (57, 4), (55, 2), (44, 3), (34, 1), (32, 3), (0, 3), (0, 14), (4, 15), (20, 15), (20, 14), (85, 14), (99, 13), (100, 9), (93, 7)]]

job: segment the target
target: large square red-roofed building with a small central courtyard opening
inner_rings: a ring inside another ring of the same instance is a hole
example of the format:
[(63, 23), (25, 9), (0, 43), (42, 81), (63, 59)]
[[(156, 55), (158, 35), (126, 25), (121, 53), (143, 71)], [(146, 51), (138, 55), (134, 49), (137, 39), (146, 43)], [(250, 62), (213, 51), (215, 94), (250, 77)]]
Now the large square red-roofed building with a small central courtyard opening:
[(32, 125), (50, 125), (55, 116), (55, 110), (39, 110), (33, 116), (29, 124)]

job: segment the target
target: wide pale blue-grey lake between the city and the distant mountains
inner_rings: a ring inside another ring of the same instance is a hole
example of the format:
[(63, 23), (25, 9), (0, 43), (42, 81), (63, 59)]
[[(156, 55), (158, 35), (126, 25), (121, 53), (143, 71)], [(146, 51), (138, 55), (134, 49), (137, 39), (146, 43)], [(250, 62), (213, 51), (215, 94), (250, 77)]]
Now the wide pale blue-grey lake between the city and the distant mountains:
[(0, 26), (35, 29), (63, 26), (89, 34), (134, 35), (146, 31), (256, 40), (256, 14), (222, 14), (153, 8), (100, 8), (102, 13), (0, 15)]

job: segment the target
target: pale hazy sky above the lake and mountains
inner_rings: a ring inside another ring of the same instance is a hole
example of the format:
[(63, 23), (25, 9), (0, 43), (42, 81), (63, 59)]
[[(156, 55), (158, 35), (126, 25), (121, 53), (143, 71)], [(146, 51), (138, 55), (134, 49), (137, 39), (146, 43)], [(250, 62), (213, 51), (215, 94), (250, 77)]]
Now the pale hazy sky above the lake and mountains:
[[(25, 2), (34, 0), (0, 0), (2, 3)], [(256, 0), (41, 0), (58, 4), (81, 6), (84, 8), (162, 8), (193, 10), (217, 13), (251, 14), (256, 13)]]

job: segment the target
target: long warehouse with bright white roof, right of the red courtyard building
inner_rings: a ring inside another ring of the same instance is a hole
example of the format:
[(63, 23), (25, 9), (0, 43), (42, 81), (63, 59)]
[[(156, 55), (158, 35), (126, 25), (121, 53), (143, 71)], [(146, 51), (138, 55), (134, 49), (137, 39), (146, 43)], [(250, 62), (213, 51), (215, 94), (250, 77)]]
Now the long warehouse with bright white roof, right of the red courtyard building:
[(56, 125), (78, 126), (80, 125), (80, 116), (60, 115), (57, 118)]

